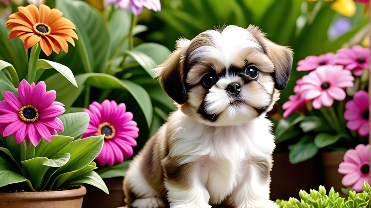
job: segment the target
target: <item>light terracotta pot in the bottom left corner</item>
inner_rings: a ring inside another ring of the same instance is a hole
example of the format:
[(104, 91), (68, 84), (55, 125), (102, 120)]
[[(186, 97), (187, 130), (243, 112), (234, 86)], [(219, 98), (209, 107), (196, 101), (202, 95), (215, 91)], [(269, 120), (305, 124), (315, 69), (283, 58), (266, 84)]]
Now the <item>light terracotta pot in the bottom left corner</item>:
[(0, 208), (81, 208), (86, 188), (66, 191), (0, 193)]

